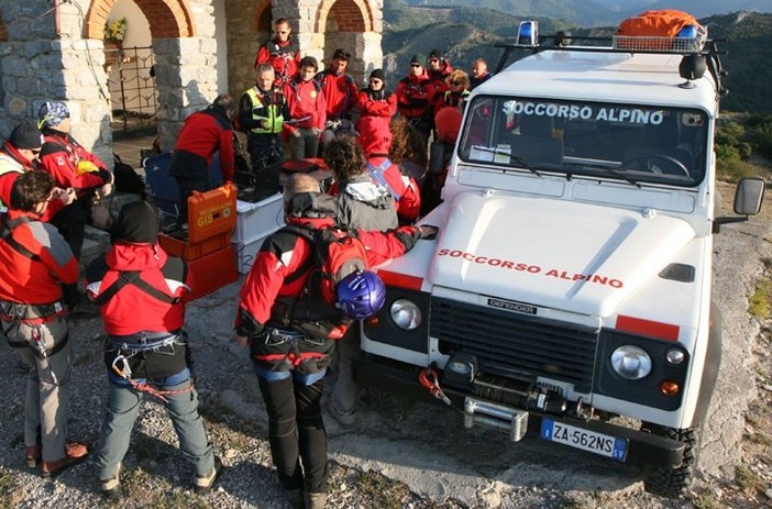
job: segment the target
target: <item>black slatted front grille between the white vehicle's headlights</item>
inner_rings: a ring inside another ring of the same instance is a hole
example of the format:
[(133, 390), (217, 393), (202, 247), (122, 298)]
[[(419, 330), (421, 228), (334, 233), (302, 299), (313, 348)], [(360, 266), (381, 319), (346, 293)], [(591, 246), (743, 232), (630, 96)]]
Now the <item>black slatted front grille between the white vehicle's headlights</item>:
[(429, 324), (443, 353), (474, 355), (482, 372), (529, 381), (544, 376), (573, 384), (581, 392), (592, 387), (598, 339), (594, 328), (437, 297)]

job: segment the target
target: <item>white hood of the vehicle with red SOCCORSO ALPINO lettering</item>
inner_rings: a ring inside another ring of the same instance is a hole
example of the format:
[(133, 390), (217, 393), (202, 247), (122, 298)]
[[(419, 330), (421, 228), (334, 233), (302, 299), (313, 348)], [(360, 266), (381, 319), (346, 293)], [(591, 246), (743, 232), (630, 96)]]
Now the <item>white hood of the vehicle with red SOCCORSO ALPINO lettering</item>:
[(429, 274), (434, 285), (607, 317), (693, 239), (688, 223), (655, 211), (462, 192)]

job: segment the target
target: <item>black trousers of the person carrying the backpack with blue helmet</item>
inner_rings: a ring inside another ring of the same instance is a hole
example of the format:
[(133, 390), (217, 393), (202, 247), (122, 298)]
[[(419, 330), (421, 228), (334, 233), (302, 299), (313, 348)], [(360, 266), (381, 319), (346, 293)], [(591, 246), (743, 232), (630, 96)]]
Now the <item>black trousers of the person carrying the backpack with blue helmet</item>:
[(271, 455), (282, 486), (300, 489), (305, 479), (309, 493), (327, 493), (327, 433), (319, 407), (324, 379), (311, 385), (291, 376), (258, 380), (268, 411)]

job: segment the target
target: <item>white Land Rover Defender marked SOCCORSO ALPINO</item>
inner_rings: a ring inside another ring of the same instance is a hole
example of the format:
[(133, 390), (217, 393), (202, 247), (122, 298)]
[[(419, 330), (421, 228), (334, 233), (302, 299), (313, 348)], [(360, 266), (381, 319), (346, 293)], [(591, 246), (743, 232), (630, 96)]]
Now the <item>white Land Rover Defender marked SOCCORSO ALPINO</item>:
[(571, 42), (523, 22), (505, 54), (532, 55), (465, 107), (421, 220), (438, 237), (378, 270), (357, 379), (460, 406), (467, 428), (635, 462), (649, 491), (682, 495), (721, 354), (713, 235), (764, 189), (741, 181), (740, 215), (717, 217), (721, 69), (694, 29)]

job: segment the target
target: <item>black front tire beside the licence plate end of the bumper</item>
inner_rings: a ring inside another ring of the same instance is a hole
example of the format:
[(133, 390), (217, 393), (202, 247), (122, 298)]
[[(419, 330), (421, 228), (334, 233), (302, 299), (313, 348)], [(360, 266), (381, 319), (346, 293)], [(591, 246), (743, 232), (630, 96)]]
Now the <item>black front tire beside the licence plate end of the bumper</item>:
[(650, 494), (668, 498), (681, 498), (686, 494), (697, 469), (702, 425), (676, 430), (657, 424), (643, 424), (641, 429), (658, 436), (676, 440), (686, 444), (681, 466), (646, 468), (643, 486)]

